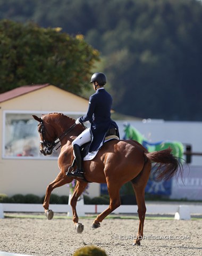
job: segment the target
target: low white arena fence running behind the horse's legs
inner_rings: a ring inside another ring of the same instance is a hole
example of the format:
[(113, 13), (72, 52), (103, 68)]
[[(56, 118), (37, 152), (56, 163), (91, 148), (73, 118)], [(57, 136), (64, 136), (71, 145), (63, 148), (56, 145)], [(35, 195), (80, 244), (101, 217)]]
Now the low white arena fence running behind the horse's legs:
[[(80, 217), (86, 214), (97, 214), (107, 209), (108, 205), (77, 205), (77, 212)], [(202, 215), (202, 204), (178, 204), (178, 203), (146, 203), (147, 214), (174, 214), (175, 219), (190, 219), (191, 214)], [(69, 213), (72, 216), (71, 205), (51, 204), (49, 209), (57, 213)], [(121, 205), (113, 211), (115, 214), (137, 213), (137, 205)], [(4, 218), (4, 212), (44, 212), (42, 204), (0, 204), (0, 218)]]

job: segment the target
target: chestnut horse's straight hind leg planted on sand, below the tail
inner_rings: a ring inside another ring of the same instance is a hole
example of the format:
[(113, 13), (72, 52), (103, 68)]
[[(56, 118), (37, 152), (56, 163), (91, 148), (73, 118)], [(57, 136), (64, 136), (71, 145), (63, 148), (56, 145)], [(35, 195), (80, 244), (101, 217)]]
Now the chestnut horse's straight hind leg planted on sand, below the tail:
[(145, 163), (144, 169), (142, 169), (138, 177), (132, 180), (132, 186), (133, 186), (134, 192), (136, 193), (138, 215), (140, 220), (137, 239), (136, 241), (134, 241), (133, 245), (140, 245), (140, 241), (143, 238), (143, 229), (144, 229), (144, 221), (145, 221), (145, 213), (146, 213), (145, 187), (149, 179), (150, 170), (151, 170), (151, 163), (150, 161), (147, 161)]

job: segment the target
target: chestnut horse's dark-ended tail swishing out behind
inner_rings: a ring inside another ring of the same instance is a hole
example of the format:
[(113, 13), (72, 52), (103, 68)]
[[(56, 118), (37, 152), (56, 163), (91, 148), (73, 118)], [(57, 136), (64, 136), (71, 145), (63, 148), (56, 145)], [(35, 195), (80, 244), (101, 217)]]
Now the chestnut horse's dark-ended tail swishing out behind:
[(161, 151), (145, 152), (145, 155), (150, 159), (150, 161), (156, 163), (157, 169), (154, 173), (162, 169), (157, 175), (157, 179), (159, 180), (169, 180), (176, 175), (178, 171), (182, 177), (182, 164), (179, 162), (178, 158), (173, 156), (171, 151), (171, 148), (167, 148)]

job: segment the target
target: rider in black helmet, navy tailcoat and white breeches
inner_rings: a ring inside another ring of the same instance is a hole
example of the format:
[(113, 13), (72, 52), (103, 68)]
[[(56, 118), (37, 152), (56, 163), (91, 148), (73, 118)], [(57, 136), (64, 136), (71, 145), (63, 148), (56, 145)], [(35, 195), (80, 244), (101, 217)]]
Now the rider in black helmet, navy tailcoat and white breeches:
[(93, 84), (96, 92), (90, 96), (87, 114), (75, 121), (76, 124), (89, 121), (91, 125), (72, 142), (77, 169), (68, 172), (70, 176), (83, 178), (81, 145), (91, 141), (90, 153), (102, 147), (109, 130), (119, 137), (119, 128), (111, 119), (112, 96), (104, 89), (106, 81), (107, 78), (103, 73), (95, 73), (91, 77), (90, 83)]

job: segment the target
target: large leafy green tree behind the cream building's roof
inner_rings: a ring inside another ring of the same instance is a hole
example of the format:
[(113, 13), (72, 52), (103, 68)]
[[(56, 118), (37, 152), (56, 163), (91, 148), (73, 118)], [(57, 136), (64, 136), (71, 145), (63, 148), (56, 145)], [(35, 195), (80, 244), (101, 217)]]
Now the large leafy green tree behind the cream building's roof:
[(0, 92), (26, 84), (51, 83), (73, 93), (89, 87), (98, 51), (82, 35), (40, 28), (35, 23), (0, 22)]

